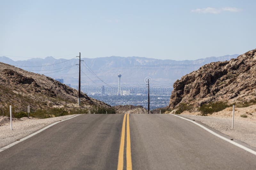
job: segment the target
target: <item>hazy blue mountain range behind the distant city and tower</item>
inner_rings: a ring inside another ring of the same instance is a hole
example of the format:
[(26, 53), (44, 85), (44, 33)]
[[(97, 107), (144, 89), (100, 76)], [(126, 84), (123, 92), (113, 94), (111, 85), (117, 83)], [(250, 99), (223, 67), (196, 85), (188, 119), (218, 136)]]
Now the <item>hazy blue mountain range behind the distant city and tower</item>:
[[(100, 79), (110, 85), (117, 85), (117, 75), (122, 74), (121, 81), (125, 85), (136, 85), (137, 83), (144, 84), (144, 78), (149, 76), (152, 78), (152, 83), (165, 86), (174, 83), (185, 74), (197, 70), (201, 66), (215, 61), (225, 61), (236, 58), (238, 54), (225, 55), (221, 57), (208, 57), (198, 60), (159, 60), (145, 57), (100, 57), (100, 58), (83, 58), (81, 60), (82, 84), (86, 81), (88, 84), (93, 84), (94, 81), (98, 85), (104, 85), (96, 76), (86, 69), (86, 64), (97, 74)], [(46, 57), (45, 59), (33, 58), (29, 60), (13, 61), (7, 57), (0, 57), (0, 62), (15, 65), (22, 69), (45, 74), (52, 78), (63, 77), (65, 84), (77, 84), (78, 77), (78, 59), (54, 59)], [(59, 64), (57, 64), (59, 63)], [(45, 66), (48, 65), (48, 66)], [(44, 66), (44, 67), (22, 67), (22, 66)], [(71, 66), (71, 67), (69, 67)], [(60, 69), (62, 68), (62, 69)], [(59, 69), (59, 70), (58, 70)], [(60, 71), (61, 70), (61, 71)], [(59, 71), (59, 72), (57, 72)], [(87, 78), (84, 74), (92, 79)]]

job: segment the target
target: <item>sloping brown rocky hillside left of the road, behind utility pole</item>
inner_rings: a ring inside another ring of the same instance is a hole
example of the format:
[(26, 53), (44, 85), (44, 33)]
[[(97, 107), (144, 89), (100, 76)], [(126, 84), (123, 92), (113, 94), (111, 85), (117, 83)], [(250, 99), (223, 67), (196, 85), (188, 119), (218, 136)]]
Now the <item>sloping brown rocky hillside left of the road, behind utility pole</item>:
[[(53, 107), (77, 107), (78, 91), (45, 75), (36, 74), (0, 62), (0, 108), (12, 105), (17, 111)], [(110, 107), (81, 94), (81, 108), (94, 105)]]

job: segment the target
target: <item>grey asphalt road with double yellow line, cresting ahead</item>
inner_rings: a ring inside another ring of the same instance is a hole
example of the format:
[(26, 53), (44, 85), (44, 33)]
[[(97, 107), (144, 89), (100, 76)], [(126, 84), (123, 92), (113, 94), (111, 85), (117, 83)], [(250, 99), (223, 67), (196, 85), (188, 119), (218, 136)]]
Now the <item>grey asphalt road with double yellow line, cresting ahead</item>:
[(256, 169), (256, 156), (173, 115), (84, 114), (0, 152), (0, 169)]

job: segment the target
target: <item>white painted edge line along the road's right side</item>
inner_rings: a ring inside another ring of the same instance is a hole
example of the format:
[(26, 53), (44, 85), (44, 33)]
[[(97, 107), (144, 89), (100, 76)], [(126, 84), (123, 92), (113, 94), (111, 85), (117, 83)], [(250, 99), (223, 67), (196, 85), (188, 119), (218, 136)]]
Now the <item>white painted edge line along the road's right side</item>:
[[(180, 117), (180, 116), (177, 116), (177, 115), (174, 115), (174, 114), (171, 114), (171, 115), (176, 116), (176, 117)], [(231, 143), (231, 144), (233, 144), (233, 145), (236, 145), (236, 146), (238, 146), (238, 147), (244, 149), (244, 150), (247, 151), (247, 152), (250, 152), (250, 153), (256, 155), (256, 152), (253, 151), (252, 149), (249, 149), (249, 148), (247, 148), (247, 147), (245, 147), (245, 146), (243, 146), (243, 145), (240, 145), (240, 144), (238, 144), (238, 143), (236, 143), (236, 142), (234, 142), (234, 141), (232, 141), (232, 140), (229, 140), (229, 139), (227, 139), (227, 138), (225, 138), (225, 137), (219, 135), (218, 133), (215, 133), (214, 131), (212, 131), (212, 130), (206, 128), (206, 127), (204, 127), (203, 125), (201, 125), (201, 124), (199, 124), (199, 123), (196, 123), (196, 122), (194, 122), (194, 121), (192, 121), (192, 120), (189, 120), (189, 119), (187, 119), (187, 118), (184, 118), (184, 117), (180, 117), (180, 118), (181, 118), (181, 119), (185, 119), (185, 120), (187, 120), (187, 121), (189, 121), (189, 122), (192, 122), (192, 123), (194, 123), (194, 124), (200, 126), (201, 128), (203, 128), (204, 130), (206, 130), (206, 131), (212, 133), (213, 135), (215, 135), (215, 136), (217, 136), (217, 137), (219, 137), (219, 138), (221, 138), (221, 139), (223, 139), (223, 140), (226, 140), (227, 142), (229, 142), (229, 143)]]

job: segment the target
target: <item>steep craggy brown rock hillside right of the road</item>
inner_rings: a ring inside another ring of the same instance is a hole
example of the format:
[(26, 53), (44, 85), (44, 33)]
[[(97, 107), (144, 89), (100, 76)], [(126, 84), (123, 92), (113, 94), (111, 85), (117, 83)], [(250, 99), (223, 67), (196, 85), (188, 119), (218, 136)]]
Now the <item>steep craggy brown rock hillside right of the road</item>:
[(201, 106), (204, 103), (250, 101), (256, 98), (256, 49), (236, 59), (212, 62), (173, 84), (169, 108), (179, 103)]

